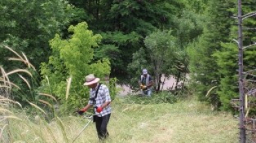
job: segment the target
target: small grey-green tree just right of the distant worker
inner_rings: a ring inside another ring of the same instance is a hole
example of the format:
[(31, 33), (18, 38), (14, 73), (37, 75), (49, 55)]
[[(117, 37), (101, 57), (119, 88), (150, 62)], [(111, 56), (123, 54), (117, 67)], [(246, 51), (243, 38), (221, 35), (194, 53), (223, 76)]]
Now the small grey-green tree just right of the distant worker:
[(145, 46), (154, 69), (156, 90), (159, 91), (162, 74), (174, 75), (176, 69), (172, 63), (176, 60), (180, 49), (176, 46), (176, 39), (172, 36), (171, 31), (167, 30), (158, 30), (147, 36)]

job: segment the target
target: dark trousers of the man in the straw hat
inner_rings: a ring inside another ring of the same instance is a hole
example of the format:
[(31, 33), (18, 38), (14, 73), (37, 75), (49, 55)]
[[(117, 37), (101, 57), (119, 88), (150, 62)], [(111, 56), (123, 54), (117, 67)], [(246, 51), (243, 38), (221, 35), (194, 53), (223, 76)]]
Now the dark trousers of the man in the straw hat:
[(109, 132), (107, 131), (107, 124), (109, 123), (110, 115), (111, 113), (104, 115), (103, 117), (95, 117), (96, 129), (100, 140), (104, 140), (109, 136)]

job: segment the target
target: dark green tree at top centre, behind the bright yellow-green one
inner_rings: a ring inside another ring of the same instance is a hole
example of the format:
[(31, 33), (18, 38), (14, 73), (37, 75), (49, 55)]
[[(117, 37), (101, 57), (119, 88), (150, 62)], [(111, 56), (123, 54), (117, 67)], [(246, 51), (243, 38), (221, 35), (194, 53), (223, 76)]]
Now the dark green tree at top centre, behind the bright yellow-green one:
[[(110, 58), (113, 76), (127, 75), (131, 54), (145, 47), (145, 36), (159, 28), (170, 28), (174, 17), (183, 8), (183, 2), (173, 0), (89, 0), (71, 3), (85, 10), (91, 29), (102, 35), (102, 47), (106, 50), (100, 50), (95, 56)], [(113, 53), (118, 56), (113, 56)]]

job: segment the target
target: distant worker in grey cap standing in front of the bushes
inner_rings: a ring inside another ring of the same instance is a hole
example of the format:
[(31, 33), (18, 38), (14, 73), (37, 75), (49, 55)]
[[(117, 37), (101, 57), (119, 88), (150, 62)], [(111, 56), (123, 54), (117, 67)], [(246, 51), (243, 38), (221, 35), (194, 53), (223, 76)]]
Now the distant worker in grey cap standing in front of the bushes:
[(143, 74), (140, 76), (138, 83), (143, 94), (150, 97), (152, 94), (153, 79), (147, 73), (147, 69), (143, 69)]

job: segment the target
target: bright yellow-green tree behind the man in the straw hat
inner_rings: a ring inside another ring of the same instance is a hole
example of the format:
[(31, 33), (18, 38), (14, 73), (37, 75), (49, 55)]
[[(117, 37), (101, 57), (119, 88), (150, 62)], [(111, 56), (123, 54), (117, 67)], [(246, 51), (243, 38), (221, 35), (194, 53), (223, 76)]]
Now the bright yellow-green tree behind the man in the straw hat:
[[(77, 107), (84, 105), (84, 99), (88, 99), (88, 89), (84, 88), (84, 76), (95, 74), (104, 79), (110, 74), (110, 63), (106, 58), (99, 61), (93, 60), (93, 47), (98, 47), (102, 39), (99, 34), (93, 34), (88, 30), (88, 25), (78, 23), (71, 25), (68, 31), (72, 33), (70, 39), (61, 39), (59, 34), (50, 41), (53, 55), (50, 56), (48, 63), (42, 63), (41, 74), (48, 76), (48, 86), (46, 78), (42, 85), (43, 89), (57, 96), (62, 103), (68, 102), (69, 106)], [(66, 79), (71, 77), (70, 98), (66, 100)]]

